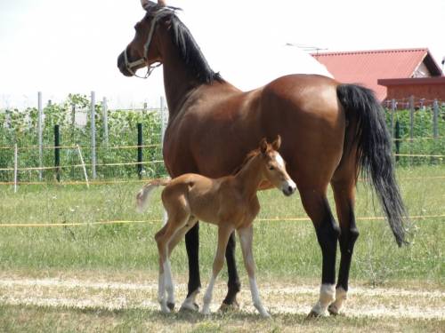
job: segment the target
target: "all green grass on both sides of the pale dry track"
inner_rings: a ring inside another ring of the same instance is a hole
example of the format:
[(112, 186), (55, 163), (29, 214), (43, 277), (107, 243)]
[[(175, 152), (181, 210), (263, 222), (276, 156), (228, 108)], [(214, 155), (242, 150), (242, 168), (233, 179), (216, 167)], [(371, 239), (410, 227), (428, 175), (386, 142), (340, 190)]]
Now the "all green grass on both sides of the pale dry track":
[[(401, 192), (410, 216), (445, 214), (445, 165), (399, 169)], [(158, 253), (153, 235), (160, 222), (92, 225), (96, 221), (151, 220), (162, 217), (159, 195), (143, 215), (134, 210), (134, 195), (141, 184), (92, 186), (20, 186), (13, 194), (11, 186), (0, 187), (0, 224), (82, 223), (82, 226), (0, 227), (0, 271), (23, 276), (50, 276), (54, 272), (97, 272), (98, 274), (147, 274), (155, 279)], [(329, 194), (330, 195), (330, 194)], [(259, 218), (305, 218), (298, 194), (287, 198), (278, 191), (260, 194)], [(332, 195), (329, 196), (330, 202)], [(332, 203), (332, 207), (334, 207)], [(376, 210), (375, 210), (376, 208)], [(360, 184), (356, 216), (382, 216), (378, 202), (368, 187)], [(410, 225), (411, 245), (397, 248), (384, 220), (359, 219), (360, 238), (352, 261), (351, 284), (405, 287), (412, 285), (445, 288), (445, 217), (414, 218)], [(317, 285), (320, 281), (321, 255), (312, 223), (305, 221), (258, 221), (255, 223), (255, 260), (258, 281), (302, 279)], [(203, 285), (210, 274), (215, 250), (215, 227), (200, 226), (200, 267)], [(237, 250), (241, 264), (240, 250)], [(178, 246), (172, 258), (175, 277), (185, 280), (187, 258), (184, 246)], [(239, 265), (243, 279), (246, 273)], [(225, 272), (221, 281), (225, 280)], [(246, 280), (244, 280), (246, 281)], [(152, 281), (154, 282), (154, 281)], [(246, 283), (244, 283), (246, 286)], [(246, 287), (243, 287), (246, 289)], [(261, 289), (261, 288), (260, 288)], [(1, 295), (0, 295), (1, 296)], [(215, 299), (214, 302), (219, 302)], [(315, 298), (314, 298), (315, 301)], [(233, 317), (234, 316), (234, 317)], [(315, 323), (303, 321), (302, 315), (279, 314), (273, 321), (239, 313), (222, 315), (216, 321), (183, 314), (165, 317), (142, 310), (77, 310), (38, 306), (0, 305), (0, 330), (45, 331), (60, 327), (76, 330), (76, 322), (89, 325), (89, 331), (102, 331), (109, 323), (117, 331), (163, 330), (175, 328), (195, 331), (280, 331), (304, 329), (329, 331), (439, 331), (443, 321), (393, 321), (384, 319), (340, 318)], [(332, 322), (336, 322), (332, 327)], [(20, 323), (21, 322), (21, 323)], [(30, 324), (33, 322), (33, 324)], [(9, 326), (8, 326), (9, 325)], [(34, 326), (33, 326), (34, 325)], [(395, 326), (394, 326), (395, 325)], [(85, 326), (86, 327), (86, 326)], [(82, 327), (80, 330), (83, 330)]]

